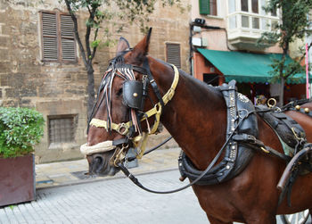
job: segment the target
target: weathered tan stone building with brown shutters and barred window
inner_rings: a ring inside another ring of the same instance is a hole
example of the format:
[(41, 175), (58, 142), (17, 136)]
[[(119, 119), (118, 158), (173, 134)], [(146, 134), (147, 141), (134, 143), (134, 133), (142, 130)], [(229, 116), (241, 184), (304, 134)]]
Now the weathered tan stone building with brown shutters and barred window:
[[(188, 1), (182, 1), (185, 5)], [(150, 17), (150, 54), (188, 70), (189, 12), (177, 7), (156, 10)], [(83, 39), (86, 13), (78, 13)], [(64, 4), (56, 0), (0, 0), (1, 106), (31, 107), (45, 117), (45, 134), (36, 147), (36, 162), (81, 158), (86, 142), (86, 70)], [(131, 46), (144, 37), (127, 25), (120, 34)], [(115, 54), (101, 47), (94, 58), (95, 88)], [(166, 135), (166, 134), (164, 134)]]

